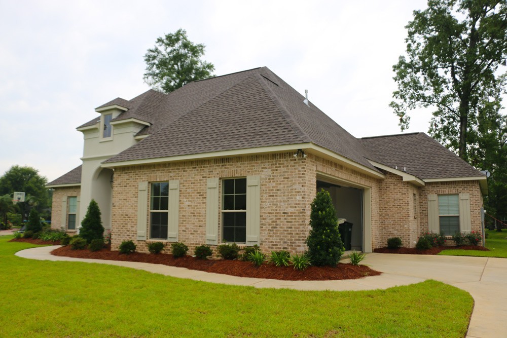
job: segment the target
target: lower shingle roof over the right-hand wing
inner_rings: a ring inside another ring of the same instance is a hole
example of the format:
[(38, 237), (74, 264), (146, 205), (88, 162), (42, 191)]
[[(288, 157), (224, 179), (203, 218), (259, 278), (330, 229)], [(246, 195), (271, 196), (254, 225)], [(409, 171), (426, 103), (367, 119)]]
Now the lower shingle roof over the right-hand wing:
[(364, 137), (359, 139), (372, 161), (406, 170), (420, 179), (484, 176), (425, 133)]

